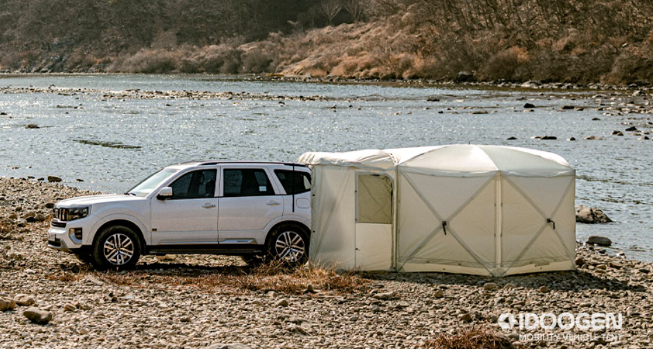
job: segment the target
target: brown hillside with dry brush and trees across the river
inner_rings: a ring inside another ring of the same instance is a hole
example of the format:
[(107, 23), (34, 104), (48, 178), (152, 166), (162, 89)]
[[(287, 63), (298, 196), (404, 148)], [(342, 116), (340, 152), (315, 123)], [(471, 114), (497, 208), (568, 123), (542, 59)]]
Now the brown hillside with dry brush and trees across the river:
[[(0, 4), (0, 70), (6, 73), (653, 80), (650, 0)], [(463, 71), (469, 74), (459, 75)]]

